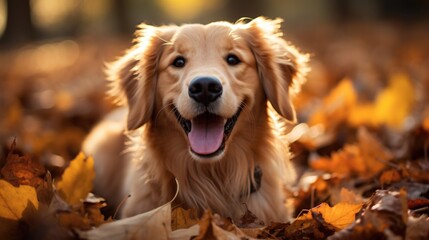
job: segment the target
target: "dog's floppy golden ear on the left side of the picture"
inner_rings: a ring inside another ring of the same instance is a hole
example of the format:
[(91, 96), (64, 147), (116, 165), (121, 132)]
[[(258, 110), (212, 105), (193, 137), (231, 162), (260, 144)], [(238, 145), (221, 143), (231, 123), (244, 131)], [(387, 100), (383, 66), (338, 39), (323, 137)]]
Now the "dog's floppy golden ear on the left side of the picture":
[(141, 127), (153, 117), (158, 62), (162, 46), (175, 26), (154, 27), (141, 24), (134, 46), (107, 65), (109, 94), (117, 103), (128, 105), (127, 129)]

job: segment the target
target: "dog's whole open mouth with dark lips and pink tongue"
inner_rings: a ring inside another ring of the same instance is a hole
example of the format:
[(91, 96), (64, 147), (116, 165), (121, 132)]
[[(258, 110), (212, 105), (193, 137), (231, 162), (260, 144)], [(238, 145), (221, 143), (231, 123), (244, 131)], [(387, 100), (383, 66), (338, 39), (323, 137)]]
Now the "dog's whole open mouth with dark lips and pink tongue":
[(210, 112), (205, 112), (188, 120), (183, 118), (177, 108), (174, 114), (186, 135), (191, 151), (199, 157), (214, 157), (225, 149), (225, 142), (231, 134), (242, 108), (231, 118), (225, 119)]

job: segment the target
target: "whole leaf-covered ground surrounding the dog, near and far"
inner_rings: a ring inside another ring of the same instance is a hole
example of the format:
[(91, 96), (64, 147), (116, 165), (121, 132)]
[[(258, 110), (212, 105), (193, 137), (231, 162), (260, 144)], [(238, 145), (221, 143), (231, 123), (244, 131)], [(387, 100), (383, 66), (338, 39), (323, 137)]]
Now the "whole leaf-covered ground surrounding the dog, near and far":
[[(2, 239), (429, 239), (429, 33), (354, 25), (298, 34), (312, 72), (288, 140), (293, 221), (232, 222), (171, 202), (105, 216), (80, 154), (105, 100), (103, 61), (125, 41), (75, 39), (0, 55)], [(317, 44), (313, 41), (318, 39)]]

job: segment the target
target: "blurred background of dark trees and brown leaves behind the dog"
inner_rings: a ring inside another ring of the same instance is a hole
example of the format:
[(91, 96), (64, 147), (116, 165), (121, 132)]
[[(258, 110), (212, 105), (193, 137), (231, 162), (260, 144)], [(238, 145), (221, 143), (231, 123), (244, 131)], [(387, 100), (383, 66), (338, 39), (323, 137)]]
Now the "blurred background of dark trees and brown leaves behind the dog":
[(103, 68), (131, 46), (135, 26), (241, 17), (285, 20), (285, 38), (311, 55), (296, 100), (306, 122), (338, 82), (371, 102), (395, 76), (428, 115), (427, 0), (0, 0), (0, 143), (62, 169), (113, 105)]

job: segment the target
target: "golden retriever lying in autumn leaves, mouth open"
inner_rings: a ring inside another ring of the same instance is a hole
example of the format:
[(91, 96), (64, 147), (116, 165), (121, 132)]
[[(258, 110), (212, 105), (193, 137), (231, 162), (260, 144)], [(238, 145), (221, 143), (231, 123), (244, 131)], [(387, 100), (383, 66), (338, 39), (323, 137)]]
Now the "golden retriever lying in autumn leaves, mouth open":
[(295, 121), (291, 96), (307, 55), (280, 23), (140, 25), (134, 46), (108, 66), (110, 94), (125, 107), (83, 146), (95, 158), (95, 192), (113, 206), (126, 199), (121, 217), (171, 200), (177, 179), (175, 205), (289, 219), (295, 175), (283, 126)]

